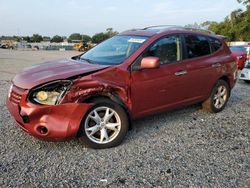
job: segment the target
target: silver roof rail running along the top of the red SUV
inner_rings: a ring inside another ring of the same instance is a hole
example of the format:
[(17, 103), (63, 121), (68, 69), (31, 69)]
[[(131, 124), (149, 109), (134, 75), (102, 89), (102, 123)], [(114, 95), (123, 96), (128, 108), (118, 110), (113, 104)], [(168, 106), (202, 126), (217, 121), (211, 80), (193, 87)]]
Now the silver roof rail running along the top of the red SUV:
[(208, 33), (215, 35), (213, 31), (207, 30), (207, 29), (202, 29), (202, 28), (195, 28), (195, 27), (183, 27), (179, 25), (156, 25), (156, 26), (149, 26), (145, 27), (142, 30), (147, 30), (147, 29), (157, 29), (160, 28), (161, 30), (165, 31), (167, 29), (182, 29), (182, 30), (188, 30), (188, 31), (197, 31), (197, 32), (203, 32), (203, 33)]

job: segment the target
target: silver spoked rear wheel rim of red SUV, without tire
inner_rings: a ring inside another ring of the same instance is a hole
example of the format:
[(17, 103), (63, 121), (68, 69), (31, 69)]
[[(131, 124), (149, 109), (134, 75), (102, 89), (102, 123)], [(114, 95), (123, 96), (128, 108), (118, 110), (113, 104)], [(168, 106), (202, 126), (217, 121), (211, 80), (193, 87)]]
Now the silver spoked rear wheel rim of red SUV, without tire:
[(221, 85), (217, 88), (213, 98), (215, 108), (220, 109), (224, 106), (227, 101), (227, 94), (227, 88), (224, 85)]

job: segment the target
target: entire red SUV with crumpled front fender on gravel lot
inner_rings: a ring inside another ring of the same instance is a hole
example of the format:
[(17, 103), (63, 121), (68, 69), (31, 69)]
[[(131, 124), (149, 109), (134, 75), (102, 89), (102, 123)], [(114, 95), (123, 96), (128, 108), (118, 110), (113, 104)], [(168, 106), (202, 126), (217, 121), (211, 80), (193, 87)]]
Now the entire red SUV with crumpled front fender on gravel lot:
[(133, 119), (202, 103), (221, 111), (237, 77), (223, 39), (183, 27), (123, 32), (86, 53), (46, 62), (12, 80), (7, 107), (27, 133), (117, 146)]

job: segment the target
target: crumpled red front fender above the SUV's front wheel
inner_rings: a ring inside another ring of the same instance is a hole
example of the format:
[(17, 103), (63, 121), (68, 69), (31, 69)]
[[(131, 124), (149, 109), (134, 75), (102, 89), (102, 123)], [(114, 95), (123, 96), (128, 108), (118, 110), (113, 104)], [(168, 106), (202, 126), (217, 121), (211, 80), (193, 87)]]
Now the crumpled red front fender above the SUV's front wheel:
[[(110, 72), (110, 74), (107, 72)], [(81, 103), (90, 98), (105, 96), (115, 102), (119, 100), (130, 111), (130, 80), (127, 72), (126, 76), (123, 74), (125, 73), (122, 70), (110, 68), (110, 70), (105, 69), (105, 77), (100, 71), (74, 80), (73, 86), (68, 91), (63, 103)]]

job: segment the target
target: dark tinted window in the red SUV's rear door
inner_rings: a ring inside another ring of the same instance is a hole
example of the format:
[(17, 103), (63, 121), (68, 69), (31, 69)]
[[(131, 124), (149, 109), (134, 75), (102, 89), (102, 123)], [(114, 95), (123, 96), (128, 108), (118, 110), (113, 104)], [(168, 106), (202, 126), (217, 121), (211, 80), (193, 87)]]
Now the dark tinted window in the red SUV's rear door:
[(188, 58), (211, 54), (211, 47), (207, 37), (199, 35), (186, 35), (185, 41)]

